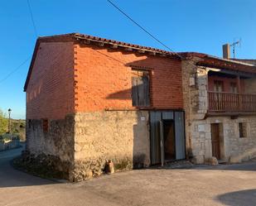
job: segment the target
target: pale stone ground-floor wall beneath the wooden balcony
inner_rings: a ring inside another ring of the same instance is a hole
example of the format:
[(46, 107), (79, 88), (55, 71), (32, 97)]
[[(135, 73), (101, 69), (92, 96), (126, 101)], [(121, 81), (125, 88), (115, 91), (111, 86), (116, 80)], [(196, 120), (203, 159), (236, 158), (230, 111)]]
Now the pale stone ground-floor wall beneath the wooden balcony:
[[(247, 137), (239, 137), (239, 122), (246, 122)], [(220, 130), (220, 141), (223, 141), (220, 142), (221, 160), (239, 162), (256, 156), (256, 117), (208, 117), (191, 125), (191, 147), (197, 163), (204, 163), (212, 156), (211, 123), (220, 123), (223, 127)]]

